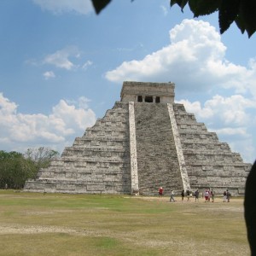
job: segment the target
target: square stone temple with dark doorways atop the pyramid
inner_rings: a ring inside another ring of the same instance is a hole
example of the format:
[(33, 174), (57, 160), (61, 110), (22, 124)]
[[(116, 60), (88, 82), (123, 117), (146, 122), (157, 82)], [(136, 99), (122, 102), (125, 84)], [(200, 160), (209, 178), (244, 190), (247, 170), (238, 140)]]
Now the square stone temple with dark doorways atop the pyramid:
[(124, 82), (121, 102), (173, 103), (173, 83)]

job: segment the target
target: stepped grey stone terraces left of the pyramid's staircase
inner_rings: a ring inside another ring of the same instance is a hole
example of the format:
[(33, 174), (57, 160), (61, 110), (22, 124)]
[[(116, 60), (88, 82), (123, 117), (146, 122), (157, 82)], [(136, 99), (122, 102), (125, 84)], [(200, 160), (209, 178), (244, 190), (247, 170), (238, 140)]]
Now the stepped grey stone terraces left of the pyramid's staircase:
[(131, 193), (128, 103), (116, 102), (83, 137), (67, 147), (25, 191)]

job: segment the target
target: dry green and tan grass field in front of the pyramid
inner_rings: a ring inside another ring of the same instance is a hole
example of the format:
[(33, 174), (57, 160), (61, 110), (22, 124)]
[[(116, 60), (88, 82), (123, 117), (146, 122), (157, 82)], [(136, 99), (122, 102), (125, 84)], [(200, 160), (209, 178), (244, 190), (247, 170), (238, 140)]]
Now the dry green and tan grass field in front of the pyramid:
[(243, 199), (0, 191), (0, 255), (250, 255)]

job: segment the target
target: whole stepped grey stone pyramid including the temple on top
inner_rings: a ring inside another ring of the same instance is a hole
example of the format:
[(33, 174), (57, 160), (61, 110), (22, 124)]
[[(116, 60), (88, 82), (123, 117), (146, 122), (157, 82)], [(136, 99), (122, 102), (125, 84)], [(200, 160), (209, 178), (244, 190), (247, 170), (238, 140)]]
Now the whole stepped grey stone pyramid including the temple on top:
[(207, 131), (175, 84), (124, 82), (121, 99), (77, 137), (24, 191), (156, 195), (159, 187), (243, 195), (251, 164)]

